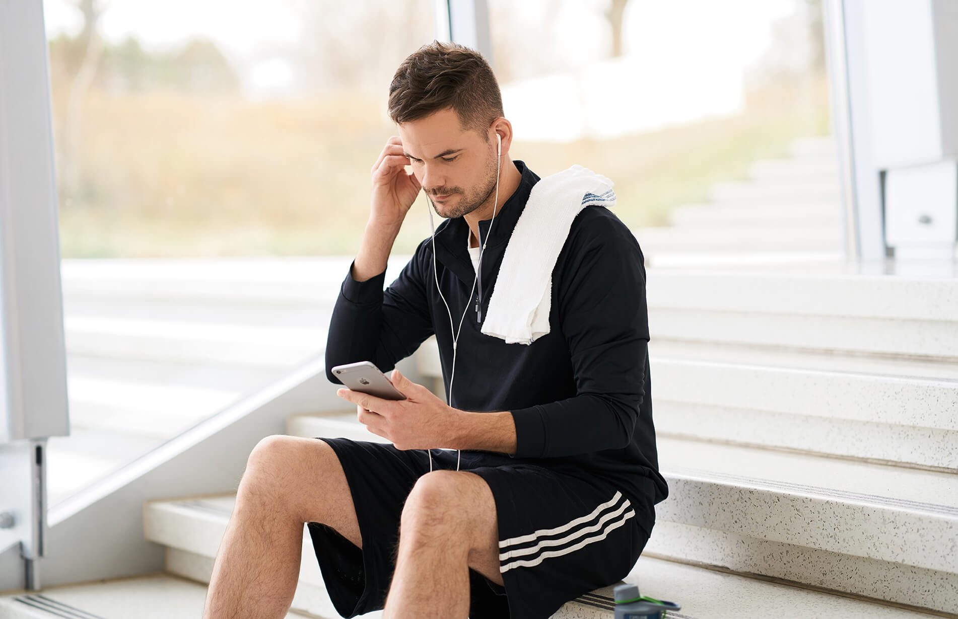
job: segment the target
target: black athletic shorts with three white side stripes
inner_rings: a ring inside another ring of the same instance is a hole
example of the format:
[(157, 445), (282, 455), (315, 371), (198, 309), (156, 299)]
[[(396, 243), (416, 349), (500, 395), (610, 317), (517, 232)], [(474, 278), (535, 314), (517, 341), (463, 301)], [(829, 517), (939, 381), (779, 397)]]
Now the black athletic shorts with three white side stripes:
[[(333, 606), (354, 617), (386, 601), (402, 506), (416, 480), (429, 472), (429, 459), (425, 450), (401, 451), (387, 443), (321, 440), (346, 473), (362, 549), (319, 522), (308, 522), (308, 531)], [(456, 452), (431, 453), (433, 470), (456, 470)], [(495, 497), (505, 583), (498, 586), (469, 569), (470, 619), (547, 619), (582, 593), (622, 580), (649, 540), (650, 531), (616, 488), (536, 462), (545, 460), (462, 453), (460, 470), (481, 475)]]

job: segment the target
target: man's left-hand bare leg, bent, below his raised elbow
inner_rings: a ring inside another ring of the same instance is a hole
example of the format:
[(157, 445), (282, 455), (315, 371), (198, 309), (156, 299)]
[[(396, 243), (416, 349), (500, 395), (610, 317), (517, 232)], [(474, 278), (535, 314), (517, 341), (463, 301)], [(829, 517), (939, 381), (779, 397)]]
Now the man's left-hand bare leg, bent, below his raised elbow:
[(239, 482), (203, 618), (285, 617), (299, 581), (303, 524), (310, 521), (362, 547), (353, 497), (332, 448), (310, 438), (263, 438)]

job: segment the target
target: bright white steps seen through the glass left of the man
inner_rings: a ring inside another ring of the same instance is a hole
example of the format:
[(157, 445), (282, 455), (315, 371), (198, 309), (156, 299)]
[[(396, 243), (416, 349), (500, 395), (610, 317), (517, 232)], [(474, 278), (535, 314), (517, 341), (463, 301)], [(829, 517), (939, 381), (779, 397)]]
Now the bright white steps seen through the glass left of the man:
[(321, 355), (351, 260), (64, 260), (72, 434), (49, 440), (49, 504)]

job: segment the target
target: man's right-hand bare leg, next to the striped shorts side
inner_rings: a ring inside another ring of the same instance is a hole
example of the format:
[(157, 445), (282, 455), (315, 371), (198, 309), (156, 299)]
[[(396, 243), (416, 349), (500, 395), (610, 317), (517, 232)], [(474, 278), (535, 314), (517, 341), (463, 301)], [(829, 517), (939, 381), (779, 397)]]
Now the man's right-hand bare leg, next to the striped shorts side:
[(465, 619), (472, 567), (502, 585), (495, 500), (468, 472), (422, 475), (402, 510), (384, 618)]

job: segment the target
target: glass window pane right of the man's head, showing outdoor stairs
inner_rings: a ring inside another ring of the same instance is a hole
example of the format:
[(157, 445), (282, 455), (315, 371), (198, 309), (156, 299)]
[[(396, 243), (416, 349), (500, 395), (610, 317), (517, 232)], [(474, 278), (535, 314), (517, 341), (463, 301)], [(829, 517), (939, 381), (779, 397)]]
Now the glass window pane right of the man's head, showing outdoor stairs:
[(818, 0), (489, 4), (513, 159), (609, 177), (650, 264), (841, 254)]

